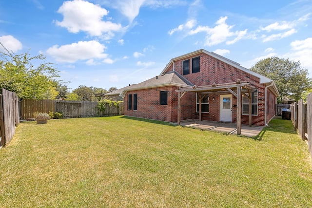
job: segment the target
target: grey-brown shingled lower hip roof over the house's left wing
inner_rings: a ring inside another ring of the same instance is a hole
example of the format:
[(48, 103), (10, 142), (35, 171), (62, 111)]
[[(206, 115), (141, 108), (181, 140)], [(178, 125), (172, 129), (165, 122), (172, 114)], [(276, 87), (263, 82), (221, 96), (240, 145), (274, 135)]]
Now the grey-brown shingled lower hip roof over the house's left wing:
[(176, 86), (176, 87), (191, 87), (194, 86), (189, 80), (179, 75), (176, 72), (167, 72), (165, 74), (161, 74), (159, 76), (153, 77), (146, 81), (143, 81), (138, 84), (133, 84), (128, 87), (125, 87), (120, 93), (121, 96), (124, 96), (127, 91), (133, 90), (142, 90), (148, 88), (156, 88), (156, 87), (165, 87), (165, 86)]

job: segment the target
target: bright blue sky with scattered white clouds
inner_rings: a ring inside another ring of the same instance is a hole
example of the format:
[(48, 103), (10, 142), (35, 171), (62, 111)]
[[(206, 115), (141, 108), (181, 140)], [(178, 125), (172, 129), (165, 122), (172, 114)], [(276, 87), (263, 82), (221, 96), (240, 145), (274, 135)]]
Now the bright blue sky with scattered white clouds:
[(312, 77), (312, 1), (1, 0), (0, 42), (45, 55), (71, 90), (139, 83), (198, 49), (245, 68), (299, 60)]

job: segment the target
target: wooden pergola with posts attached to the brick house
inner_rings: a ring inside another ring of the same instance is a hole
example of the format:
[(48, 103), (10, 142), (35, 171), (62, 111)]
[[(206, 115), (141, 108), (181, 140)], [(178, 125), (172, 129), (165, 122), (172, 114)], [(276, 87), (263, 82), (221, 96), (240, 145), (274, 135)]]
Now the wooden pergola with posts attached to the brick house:
[[(247, 89), (248, 95), (242, 92), (242, 89)], [(244, 95), (249, 100), (249, 126), (252, 125), (252, 90), (254, 86), (250, 85), (248, 82), (241, 82), (240, 79), (236, 82), (229, 82), (224, 84), (216, 84), (215, 82), (212, 85), (206, 86), (196, 86), (193, 87), (179, 87), (176, 92), (178, 92), (178, 105), (177, 105), (177, 123), (180, 125), (181, 122), (181, 98), (185, 95), (186, 92), (196, 93), (199, 98), (199, 120), (201, 121), (201, 102), (205, 96), (209, 94), (224, 94), (231, 93), (236, 97), (236, 129), (237, 134), (241, 133), (241, 114), (242, 114), (242, 95)], [(236, 92), (235, 92), (236, 91)]]

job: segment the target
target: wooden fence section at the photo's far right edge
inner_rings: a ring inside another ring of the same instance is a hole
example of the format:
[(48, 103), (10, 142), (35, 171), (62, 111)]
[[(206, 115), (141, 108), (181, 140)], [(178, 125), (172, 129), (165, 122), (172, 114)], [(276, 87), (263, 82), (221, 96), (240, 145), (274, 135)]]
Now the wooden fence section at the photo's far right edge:
[(294, 129), (298, 130), (303, 140), (308, 140), (309, 151), (312, 157), (312, 93), (308, 95), (306, 103), (303, 103), (302, 99), (292, 103), (291, 110)]

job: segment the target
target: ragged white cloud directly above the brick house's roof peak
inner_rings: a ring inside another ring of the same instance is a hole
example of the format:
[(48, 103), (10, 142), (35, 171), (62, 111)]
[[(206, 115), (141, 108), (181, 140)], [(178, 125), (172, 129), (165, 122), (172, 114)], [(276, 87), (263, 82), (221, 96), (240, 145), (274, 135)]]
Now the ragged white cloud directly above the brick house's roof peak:
[(235, 37), (233, 40), (228, 40), (226, 44), (233, 44), (242, 38), (249, 38), (246, 36), (247, 29), (244, 31), (235, 31), (231, 32), (230, 30), (234, 27), (234, 25), (228, 25), (225, 23), (228, 17), (220, 17), (216, 21), (216, 26), (211, 28), (209, 26), (201, 26), (199, 25), (196, 29), (191, 30), (188, 35), (195, 35), (200, 32), (204, 32), (207, 34), (204, 45), (212, 46), (217, 45), (221, 42), (226, 41), (230, 37)]

